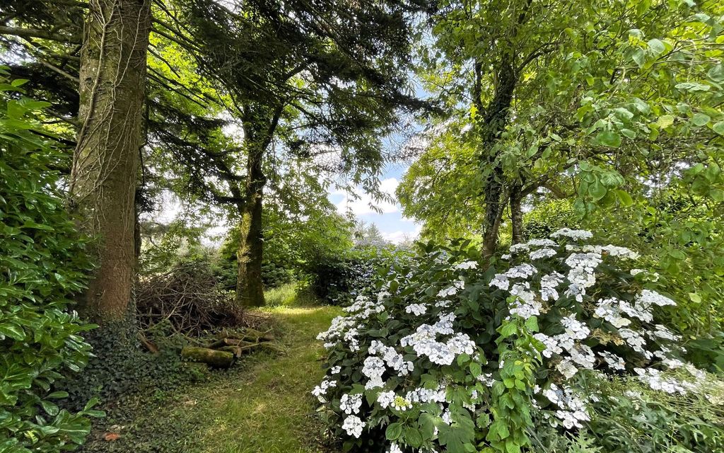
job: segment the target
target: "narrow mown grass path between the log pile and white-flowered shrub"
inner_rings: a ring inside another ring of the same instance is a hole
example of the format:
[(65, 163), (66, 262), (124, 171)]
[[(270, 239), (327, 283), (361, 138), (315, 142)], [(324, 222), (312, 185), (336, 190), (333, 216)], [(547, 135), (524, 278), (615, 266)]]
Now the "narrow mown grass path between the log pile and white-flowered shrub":
[(210, 395), (213, 412), (208, 416), (214, 420), (203, 432), (201, 452), (321, 452), (315, 441), (320, 431), (314, 416), (316, 404), (309, 394), (324, 375), (320, 367), (324, 349), (315, 336), (327, 329), (339, 309), (280, 307), (269, 311), (284, 332), (282, 344), (287, 352), (257, 357), (236, 385)]

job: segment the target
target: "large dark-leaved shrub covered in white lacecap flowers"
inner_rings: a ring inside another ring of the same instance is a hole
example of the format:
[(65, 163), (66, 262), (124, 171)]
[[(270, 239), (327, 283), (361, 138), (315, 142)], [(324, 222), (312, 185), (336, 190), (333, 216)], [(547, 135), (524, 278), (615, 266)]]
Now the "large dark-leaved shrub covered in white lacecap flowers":
[(427, 246), (345, 308), (319, 335), (329, 362), (313, 390), (345, 450), (519, 452), (540, 444), (539, 427), (585, 433), (606, 398), (593, 382), (635, 379), (681, 399), (720, 391), (681, 359), (660, 321), (675, 302), (656, 276), (590, 238), (564, 228), (487, 270), (467, 243)]

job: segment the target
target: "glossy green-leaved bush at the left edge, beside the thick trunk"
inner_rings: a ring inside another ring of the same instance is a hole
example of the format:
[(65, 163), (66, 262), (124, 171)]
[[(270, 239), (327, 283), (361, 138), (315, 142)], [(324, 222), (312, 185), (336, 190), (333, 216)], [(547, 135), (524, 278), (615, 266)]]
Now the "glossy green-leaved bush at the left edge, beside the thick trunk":
[[(75, 449), (90, 431), (90, 410), (68, 412), (54, 388), (80, 371), (90, 346), (72, 294), (81, 291), (90, 263), (85, 240), (64, 209), (59, 174), (67, 164), (44, 138), (34, 113), (48, 104), (12, 93), (22, 85), (0, 73), (0, 452)], [(9, 94), (12, 93), (12, 94)], [(15, 99), (11, 99), (14, 97)], [(38, 134), (38, 133), (41, 134)]]

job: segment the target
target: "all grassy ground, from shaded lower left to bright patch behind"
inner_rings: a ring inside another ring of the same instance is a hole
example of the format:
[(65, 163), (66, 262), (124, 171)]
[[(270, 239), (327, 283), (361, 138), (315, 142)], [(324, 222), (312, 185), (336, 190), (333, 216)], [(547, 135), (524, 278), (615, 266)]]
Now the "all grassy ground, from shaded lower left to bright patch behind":
[[(313, 304), (294, 287), (269, 291), (273, 306), (259, 310), (274, 319), (284, 353), (259, 352), (209, 382), (126, 403), (123, 416), (104, 420), (85, 452), (321, 453), (316, 400), (311, 389), (324, 375), (324, 348), (316, 334), (329, 327), (338, 307)], [(117, 441), (104, 433), (119, 432)]]

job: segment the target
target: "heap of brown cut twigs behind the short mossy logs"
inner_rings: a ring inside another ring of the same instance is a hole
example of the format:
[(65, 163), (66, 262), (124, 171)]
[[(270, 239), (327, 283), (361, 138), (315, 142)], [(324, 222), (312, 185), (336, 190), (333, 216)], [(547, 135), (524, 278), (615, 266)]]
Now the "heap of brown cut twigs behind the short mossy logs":
[(142, 278), (136, 311), (144, 330), (167, 321), (177, 333), (192, 337), (204, 331), (245, 325), (243, 309), (203, 262)]

